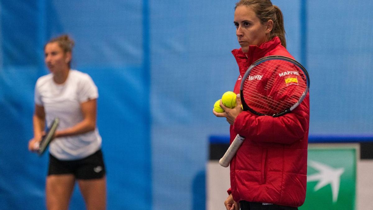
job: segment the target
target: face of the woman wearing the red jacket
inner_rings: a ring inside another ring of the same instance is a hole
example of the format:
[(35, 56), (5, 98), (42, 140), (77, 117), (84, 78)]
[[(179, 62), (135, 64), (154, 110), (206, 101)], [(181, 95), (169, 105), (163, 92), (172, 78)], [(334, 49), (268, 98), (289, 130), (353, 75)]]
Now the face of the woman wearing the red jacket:
[(238, 43), (241, 45), (243, 52), (248, 52), (250, 45), (260, 46), (260, 44), (267, 41), (266, 33), (272, 30), (271, 26), (267, 27), (269, 22), (272, 21), (261, 24), (254, 10), (248, 6), (238, 6), (236, 8), (234, 24), (236, 25)]

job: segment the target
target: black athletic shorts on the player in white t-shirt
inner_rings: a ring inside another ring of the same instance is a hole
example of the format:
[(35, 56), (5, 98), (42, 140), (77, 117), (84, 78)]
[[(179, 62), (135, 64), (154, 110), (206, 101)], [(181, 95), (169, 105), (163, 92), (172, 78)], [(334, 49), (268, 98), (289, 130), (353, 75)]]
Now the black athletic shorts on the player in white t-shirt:
[(79, 160), (58, 160), (49, 154), (49, 175), (73, 174), (76, 179), (101, 179), (105, 176), (101, 149)]

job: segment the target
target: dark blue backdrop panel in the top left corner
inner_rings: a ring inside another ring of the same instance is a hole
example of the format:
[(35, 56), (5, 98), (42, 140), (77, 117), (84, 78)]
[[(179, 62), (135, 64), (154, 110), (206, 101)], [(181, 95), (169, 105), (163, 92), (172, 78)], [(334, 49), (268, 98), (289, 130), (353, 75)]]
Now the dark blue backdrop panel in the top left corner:
[(1, 1), (0, 12), (3, 66), (37, 65), (38, 1)]

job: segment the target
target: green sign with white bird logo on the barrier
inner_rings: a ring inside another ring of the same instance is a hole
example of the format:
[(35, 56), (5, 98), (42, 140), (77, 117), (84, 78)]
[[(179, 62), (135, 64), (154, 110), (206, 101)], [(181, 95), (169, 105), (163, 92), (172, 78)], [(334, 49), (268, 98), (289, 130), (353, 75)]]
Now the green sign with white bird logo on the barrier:
[(355, 209), (357, 146), (309, 146), (300, 210)]

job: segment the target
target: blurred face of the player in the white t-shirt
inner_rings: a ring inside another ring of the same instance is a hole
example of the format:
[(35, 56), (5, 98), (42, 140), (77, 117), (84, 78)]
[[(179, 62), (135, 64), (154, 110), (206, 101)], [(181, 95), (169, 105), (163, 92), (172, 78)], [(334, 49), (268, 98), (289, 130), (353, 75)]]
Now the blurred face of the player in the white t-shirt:
[(44, 49), (44, 62), (53, 74), (69, 68), (71, 53), (63, 52), (57, 42), (48, 43)]

